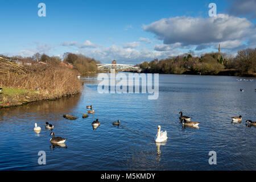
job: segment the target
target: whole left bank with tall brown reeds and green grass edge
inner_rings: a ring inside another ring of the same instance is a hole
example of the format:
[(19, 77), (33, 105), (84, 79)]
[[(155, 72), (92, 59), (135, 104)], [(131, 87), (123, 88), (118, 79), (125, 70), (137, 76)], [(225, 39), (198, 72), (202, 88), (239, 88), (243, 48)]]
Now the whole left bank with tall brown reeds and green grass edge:
[(20, 66), (0, 60), (0, 108), (80, 93), (75, 69), (56, 64)]

